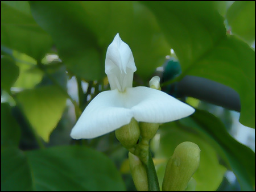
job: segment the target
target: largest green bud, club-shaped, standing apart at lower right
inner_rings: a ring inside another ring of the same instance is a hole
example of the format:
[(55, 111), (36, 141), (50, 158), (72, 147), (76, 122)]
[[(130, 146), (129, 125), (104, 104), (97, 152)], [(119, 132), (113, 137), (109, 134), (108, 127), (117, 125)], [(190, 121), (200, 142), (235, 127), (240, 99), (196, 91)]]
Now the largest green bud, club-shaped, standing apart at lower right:
[(192, 142), (177, 145), (167, 162), (163, 191), (184, 191), (200, 162), (200, 149)]

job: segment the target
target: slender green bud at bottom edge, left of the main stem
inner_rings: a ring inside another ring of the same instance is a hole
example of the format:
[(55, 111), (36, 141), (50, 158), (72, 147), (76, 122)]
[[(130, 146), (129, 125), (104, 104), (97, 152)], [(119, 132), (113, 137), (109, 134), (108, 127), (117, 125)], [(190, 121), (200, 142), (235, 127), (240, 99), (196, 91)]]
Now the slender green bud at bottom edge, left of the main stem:
[(139, 157), (129, 152), (129, 163), (131, 177), (133, 177), (134, 185), (138, 191), (147, 191), (147, 172)]

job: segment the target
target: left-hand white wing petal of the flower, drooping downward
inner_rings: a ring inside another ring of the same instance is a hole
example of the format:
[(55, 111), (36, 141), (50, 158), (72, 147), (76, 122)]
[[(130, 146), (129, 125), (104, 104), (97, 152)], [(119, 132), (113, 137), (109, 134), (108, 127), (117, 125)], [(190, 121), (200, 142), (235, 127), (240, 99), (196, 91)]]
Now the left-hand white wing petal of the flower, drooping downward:
[(130, 123), (133, 113), (123, 107), (118, 90), (103, 91), (85, 108), (71, 131), (73, 139), (91, 139)]

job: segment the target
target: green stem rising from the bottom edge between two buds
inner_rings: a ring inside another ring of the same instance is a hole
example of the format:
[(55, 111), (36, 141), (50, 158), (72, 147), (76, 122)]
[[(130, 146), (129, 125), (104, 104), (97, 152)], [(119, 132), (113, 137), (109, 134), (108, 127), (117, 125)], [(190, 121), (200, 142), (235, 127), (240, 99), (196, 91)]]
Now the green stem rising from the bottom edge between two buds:
[(144, 166), (147, 172), (148, 191), (160, 191), (158, 176), (156, 175), (155, 165), (150, 150), (148, 150), (147, 164), (144, 164)]

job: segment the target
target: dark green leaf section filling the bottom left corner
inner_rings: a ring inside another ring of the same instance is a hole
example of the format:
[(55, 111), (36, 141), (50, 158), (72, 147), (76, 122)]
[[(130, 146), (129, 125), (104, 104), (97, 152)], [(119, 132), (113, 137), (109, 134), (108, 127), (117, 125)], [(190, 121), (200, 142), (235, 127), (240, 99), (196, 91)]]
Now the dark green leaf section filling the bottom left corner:
[(27, 158), (18, 148), (1, 148), (1, 191), (32, 190)]

